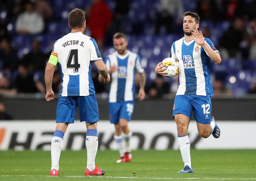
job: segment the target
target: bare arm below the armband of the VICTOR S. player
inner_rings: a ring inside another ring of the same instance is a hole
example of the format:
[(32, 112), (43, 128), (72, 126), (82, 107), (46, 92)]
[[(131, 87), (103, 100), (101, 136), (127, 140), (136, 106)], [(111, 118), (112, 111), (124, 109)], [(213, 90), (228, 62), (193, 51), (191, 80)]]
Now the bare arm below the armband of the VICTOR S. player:
[(46, 101), (52, 101), (54, 99), (54, 92), (52, 91), (52, 78), (54, 74), (54, 64), (47, 63), (44, 73), (44, 80), (46, 86)]

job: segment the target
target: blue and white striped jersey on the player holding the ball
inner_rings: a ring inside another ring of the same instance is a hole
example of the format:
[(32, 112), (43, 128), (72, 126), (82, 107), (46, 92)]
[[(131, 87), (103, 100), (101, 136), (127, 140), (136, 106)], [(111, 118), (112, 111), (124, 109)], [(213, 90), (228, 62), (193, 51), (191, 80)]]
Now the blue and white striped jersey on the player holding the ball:
[[(209, 38), (204, 40), (214, 51), (218, 52)], [(196, 44), (194, 40), (186, 42), (183, 37), (172, 44), (170, 56), (178, 60), (180, 69), (176, 95), (213, 96), (210, 81), (212, 60), (204, 48)]]

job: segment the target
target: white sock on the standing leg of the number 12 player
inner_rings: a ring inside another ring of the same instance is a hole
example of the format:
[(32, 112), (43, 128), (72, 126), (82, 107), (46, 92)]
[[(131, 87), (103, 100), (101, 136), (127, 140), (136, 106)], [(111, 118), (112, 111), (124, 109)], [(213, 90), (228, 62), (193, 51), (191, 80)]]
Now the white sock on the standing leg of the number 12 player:
[(178, 144), (184, 166), (188, 165), (190, 168), (192, 168), (190, 159), (190, 141), (188, 135), (178, 136)]

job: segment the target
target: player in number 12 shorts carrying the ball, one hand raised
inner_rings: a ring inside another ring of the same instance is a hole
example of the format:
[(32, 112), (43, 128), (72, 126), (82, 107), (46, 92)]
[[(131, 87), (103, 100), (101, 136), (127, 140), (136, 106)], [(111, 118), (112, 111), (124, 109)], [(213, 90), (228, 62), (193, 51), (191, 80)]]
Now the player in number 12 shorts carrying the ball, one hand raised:
[[(193, 173), (190, 159), (190, 141), (188, 125), (194, 113), (198, 133), (207, 138), (211, 134), (220, 137), (220, 128), (211, 116), (213, 96), (210, 81), (210, 64), (220, 64), (218, 50), (209, 38), (204, 38), (199, 28), (199, 16), (185, 12), (183, 19), (184, 37), (172, 44), (170, 56), (178, 60), (180, 74), (178, 89), (174, 99), (173, 117), (177, 124), (178, 144), (184, 169), (178, 173)], [(156, 66), (156, 73), (165, 76), (166, 68), (161, 62)]]

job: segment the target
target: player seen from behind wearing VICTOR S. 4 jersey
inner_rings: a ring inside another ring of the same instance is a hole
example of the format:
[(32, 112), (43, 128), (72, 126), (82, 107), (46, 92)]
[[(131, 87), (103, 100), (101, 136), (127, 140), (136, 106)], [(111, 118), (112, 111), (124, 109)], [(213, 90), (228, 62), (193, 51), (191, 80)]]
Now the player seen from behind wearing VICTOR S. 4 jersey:
[(97, 121), (98, 104), (91, 76), (91, 62), (94, 62), (104, 82), (110, 82), (110, 75), (102, 61), (98, 46), (93, 38), (84, 35), (85, 12), (74, 8), (68, 15), (71, 32), (54, 43), (52, 54), (46, 65), (46, 101), (54, 99), (52, 77), (54, 67), (59, 63), (62, 75), (60, 97), (56, 111), (56, 130), (52, 137), (50, 175), (59, 175), (59, 159), (63, 137), (68, 124), (74, 123), (79, 106), (80, 121), (86, 121), (87, 166), (85, 175), (104, 175), (105, 171), (95, 165), (98, 149)]

